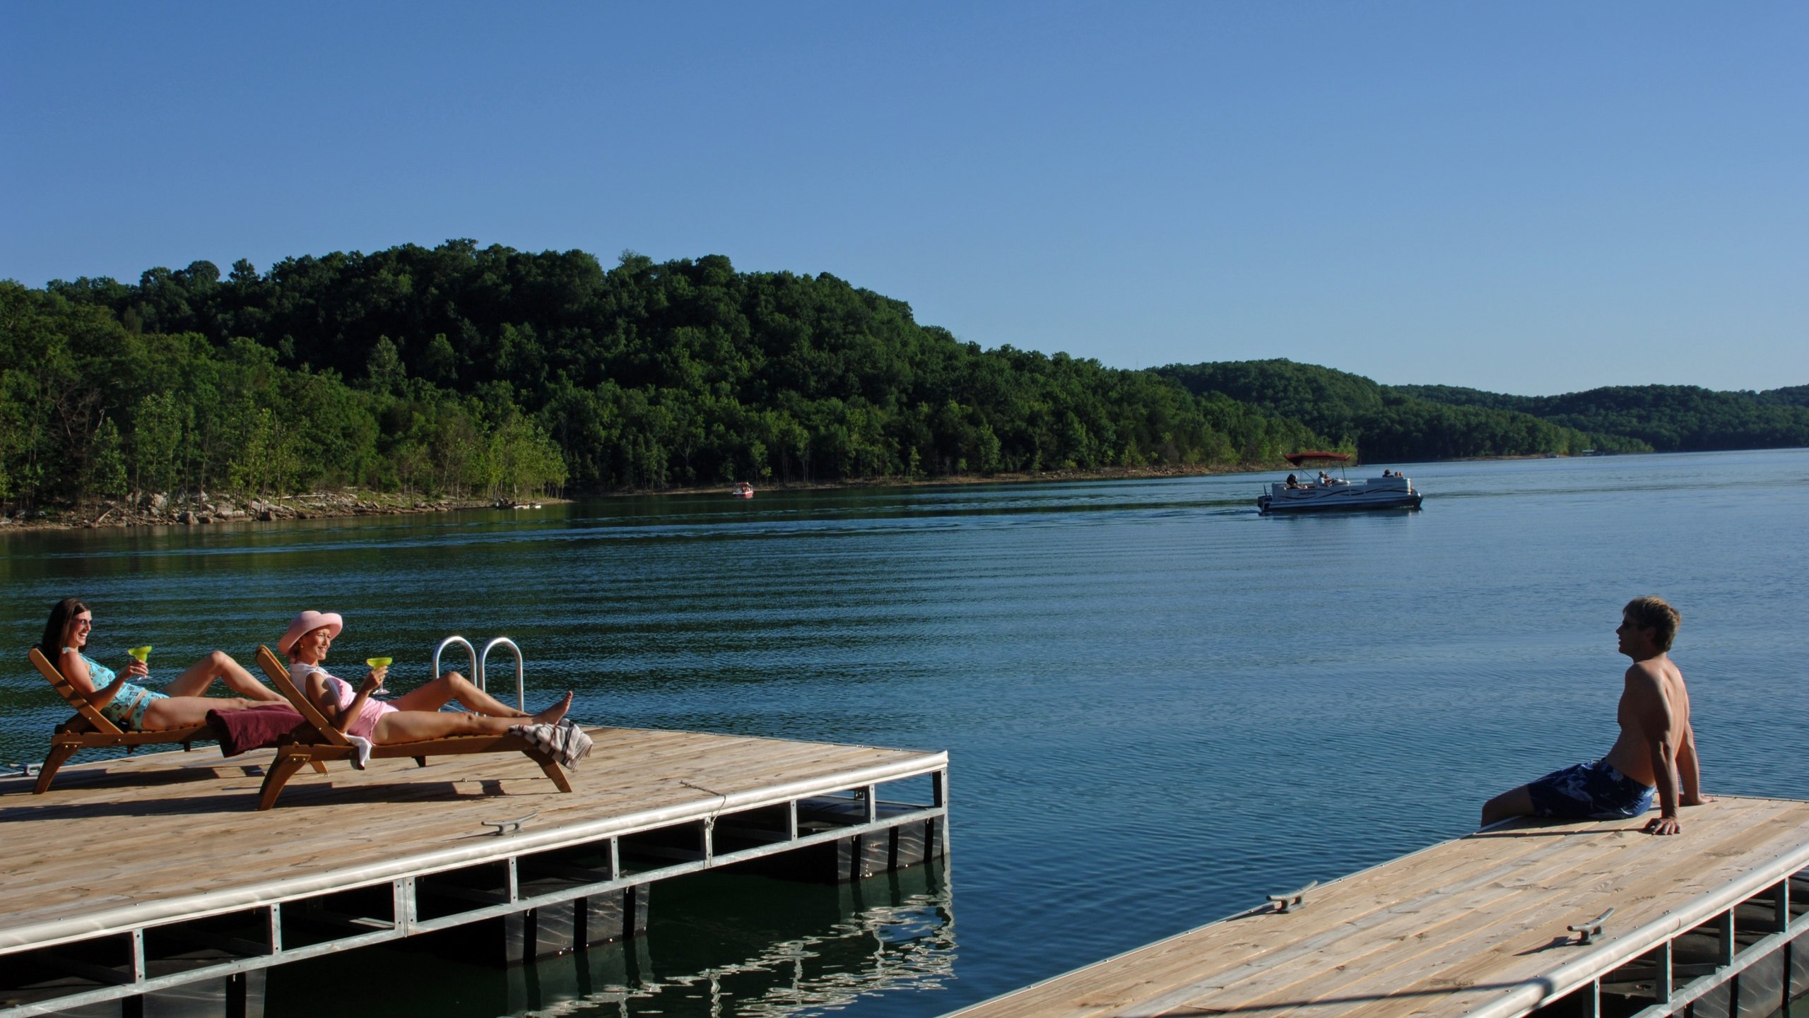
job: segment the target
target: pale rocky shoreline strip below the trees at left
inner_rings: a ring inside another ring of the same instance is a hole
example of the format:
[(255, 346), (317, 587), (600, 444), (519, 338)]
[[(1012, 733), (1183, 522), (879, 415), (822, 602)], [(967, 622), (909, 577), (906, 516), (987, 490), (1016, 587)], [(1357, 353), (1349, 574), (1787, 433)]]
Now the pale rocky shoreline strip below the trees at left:
[[(543, 499), (561, 501), (561, 499)], [(154, 492), (136, 499), (105, 499), (90, 510), (49, 510), (0, 515), (4, 530), (94, 530), (103, 526), (212, 526), (232, 523), (277, 523), (288, 519), (335, 519), (351, 515), (403, 515), (472, 508), (517, 508), (541, 503), (508, 499), (425, 499), (385, 492), (344, 490), (235, 499), (208, 492)]]

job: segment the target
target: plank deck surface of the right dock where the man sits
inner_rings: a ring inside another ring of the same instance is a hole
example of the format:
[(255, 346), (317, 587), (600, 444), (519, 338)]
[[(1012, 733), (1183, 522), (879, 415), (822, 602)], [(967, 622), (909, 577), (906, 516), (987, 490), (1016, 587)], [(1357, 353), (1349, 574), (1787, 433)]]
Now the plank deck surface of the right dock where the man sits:
[[(1606, 971), (1641, 928), (1693, 926), (1755, 873), (1809, 864), (1809, 803), (1729, 797), (1684, 819), (1681, 837), (1639, 821), (1480, 832), (1333, 881), (1299, 911), (1208, 924), (959, 1014), (1467, 1014), (1567, 964)], [(1601, 938), (1559, 946), (1610, 906)]]

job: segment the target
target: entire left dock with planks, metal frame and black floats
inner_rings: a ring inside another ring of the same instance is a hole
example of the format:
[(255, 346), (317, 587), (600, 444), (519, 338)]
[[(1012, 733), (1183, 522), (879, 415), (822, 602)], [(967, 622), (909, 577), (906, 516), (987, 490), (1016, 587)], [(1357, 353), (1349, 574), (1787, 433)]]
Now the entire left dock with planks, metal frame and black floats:
[[(946, 853), (948, 754), (588, 729), (561, 794), (521, 754), (295, 778), (268, 756), (157, 752), (0, 779), (0, 1018), (219, 987), (246, 1013), (270, 966), (497, 931), (528, 960), (646, 928), (655, 881), (810, 857), (857, 879)], [(208, 993), (213, 993), (212, 989)]]

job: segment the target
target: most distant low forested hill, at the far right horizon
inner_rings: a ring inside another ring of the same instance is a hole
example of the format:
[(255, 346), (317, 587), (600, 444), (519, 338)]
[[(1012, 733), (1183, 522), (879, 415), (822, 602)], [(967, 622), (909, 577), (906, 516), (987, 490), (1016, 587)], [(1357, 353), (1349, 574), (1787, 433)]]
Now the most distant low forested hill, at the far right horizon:
[(1809, 385), (1767, 392), (1612, 385), (1563, 396), (1505, 396), (1451, 385), (1397, 385), (1393, 391), (1460, 407), (1518, 410), (1554, 425), (1637, 438), (1662, 452), (1809, 445)]

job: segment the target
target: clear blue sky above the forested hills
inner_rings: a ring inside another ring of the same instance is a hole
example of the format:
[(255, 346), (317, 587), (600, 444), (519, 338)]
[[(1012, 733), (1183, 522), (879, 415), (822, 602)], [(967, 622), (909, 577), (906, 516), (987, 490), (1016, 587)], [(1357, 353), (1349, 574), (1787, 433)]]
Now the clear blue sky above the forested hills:
[(0, 7), (0, 277), (472, 237), (982, 345), (1809, 383), (1804, 4)]

